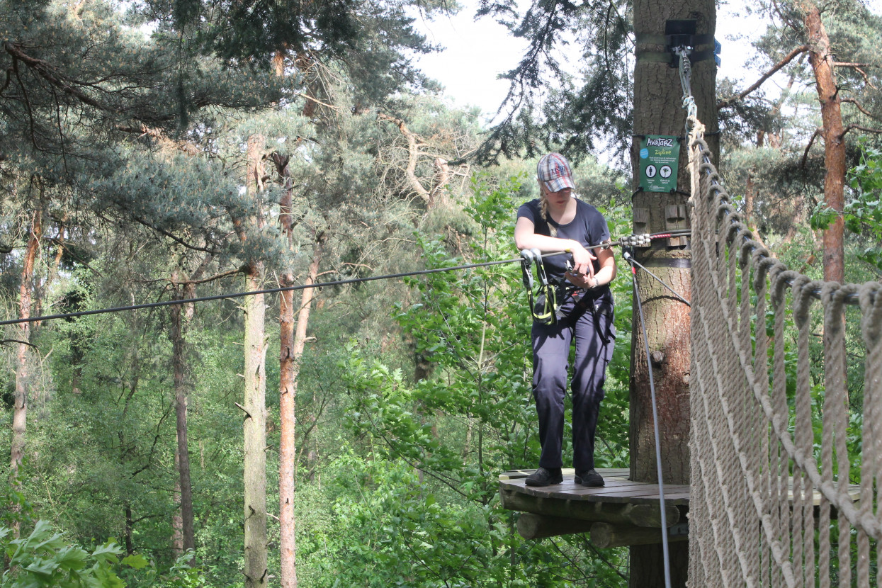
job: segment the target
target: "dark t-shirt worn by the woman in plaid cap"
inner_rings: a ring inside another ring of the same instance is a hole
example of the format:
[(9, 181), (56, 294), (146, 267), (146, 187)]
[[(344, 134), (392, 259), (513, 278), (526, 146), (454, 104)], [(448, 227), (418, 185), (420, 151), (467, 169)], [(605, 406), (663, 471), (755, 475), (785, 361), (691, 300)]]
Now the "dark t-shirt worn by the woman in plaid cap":
[[(609, 240), (609, 227), (607, 227), (606, 219), (597, 211), (594, 206), (589, 205), (576, 199), (576, 216), (565, 225), (558, 225), (551, 215), (548, 215), (548, 221), (542, 219), (542, 208), (539, 198), (530, 200), (520, 205), (518, 209), (518, 218), (524, 217), (533, 221), (534, 231), (536, 234), (545, 234), (550, 236), (551, 231), (549, 225), (557, 227), (557, 238), (572, 239), (578, 241), (583, 247), (591, 247), (600, 245), (604, 241)], [(592, 251), (596, 255), (596, 251)], [(542, 264), (545, 266), (545, 272), (549, 277), (563, 278), (566, 272), (565, 263), (567, 260), (572, 262), (572, 255), (559, 255), (545, 257)], [(600, 263), (595, 259), (594, 272), (600, 270)]]

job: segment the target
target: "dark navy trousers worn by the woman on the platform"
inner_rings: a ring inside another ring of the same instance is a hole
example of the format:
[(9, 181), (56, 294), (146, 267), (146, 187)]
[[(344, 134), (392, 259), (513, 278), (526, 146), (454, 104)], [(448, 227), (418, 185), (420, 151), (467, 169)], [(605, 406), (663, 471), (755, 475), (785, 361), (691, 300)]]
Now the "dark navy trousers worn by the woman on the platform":
[(577, 308), (572, 297), (560, 308), (557, 324), (533, 323), (533, 397), (539, 416), (539, 442), (544, 468), (563, 467), (564, 393), (570, 346), (575, 341), (572, 365), (572, 466), (594, 469), (594, 431), (603, 399), (606, 368), (615, 341), (612, 297), (607, 290), (587, 309)]

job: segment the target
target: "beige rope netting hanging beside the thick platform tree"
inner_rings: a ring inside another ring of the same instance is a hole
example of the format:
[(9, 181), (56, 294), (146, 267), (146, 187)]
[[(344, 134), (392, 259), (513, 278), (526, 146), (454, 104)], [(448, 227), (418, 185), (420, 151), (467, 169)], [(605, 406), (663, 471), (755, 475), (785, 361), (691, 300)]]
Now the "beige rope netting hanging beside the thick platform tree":
[(878, 586), (882, 284), (772, 257), (690, 121), (689, 584)]

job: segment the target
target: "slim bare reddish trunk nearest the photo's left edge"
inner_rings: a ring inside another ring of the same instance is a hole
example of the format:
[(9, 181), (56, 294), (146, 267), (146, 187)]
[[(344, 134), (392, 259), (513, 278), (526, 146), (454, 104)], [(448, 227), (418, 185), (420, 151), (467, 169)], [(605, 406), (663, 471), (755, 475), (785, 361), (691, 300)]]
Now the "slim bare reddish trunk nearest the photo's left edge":
[[(42, 210), (41, 207), (34, 212), (31, 220), (30, 237), (27, 240), (25, 258), (21, 268), (21, 285), (19, 286), (19, 318), (30, 318), (31, 303), (34, 293), (34, 264), (37, 252), (40, 249), (42, 237)], [(12, 413), (12, 447), (11, 447), (11, 474), (15, 480), (19, 473), (19, 466), (25, 458), (25, 436), (27, 427), (27, 393), (30, 388), (30, 373), (27, 365), (27, 347), (30, 345), (31, 324), (19, 323), (19, 343), (16, 347), (15, 356), (15, 407)], [(17, 508), (17, 507), (14, 507)], [(15, 525), (14, 532), (18, 535), (19, 526)]]

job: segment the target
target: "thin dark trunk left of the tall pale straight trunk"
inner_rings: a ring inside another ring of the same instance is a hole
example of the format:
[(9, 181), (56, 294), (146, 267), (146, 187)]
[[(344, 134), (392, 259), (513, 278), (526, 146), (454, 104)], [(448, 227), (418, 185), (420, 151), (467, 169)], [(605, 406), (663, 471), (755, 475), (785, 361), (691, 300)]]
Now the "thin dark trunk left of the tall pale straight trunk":
[[(176, 279), (173, 276), (172, 279)], [(176, 298), (188, 298), (192, 288), (183, 287), (176, 290)], [(182, 308), (183, 307), (183, 308)], [(181, 517), (181, 543), (183, 551), (195, 551), (196, 539), (193, 531), (193, 491), (190, 480), (190, 450), (187, 443), (187, 383), (186, 383), (186, 357), (184, 341), (184, 323), (193, 312), (193, 305), (174, 304), (171, 306), (171, 332), (172, 342), (172, 368), (175, 382), (175, 414), (176, 414), (176, 438), (175, 464), (177, 466), (177, 488), (180, 495)], [(176, 549), (178, 546), (176, 545)], [(195, 559), (191, 559), (195, 564)]]

